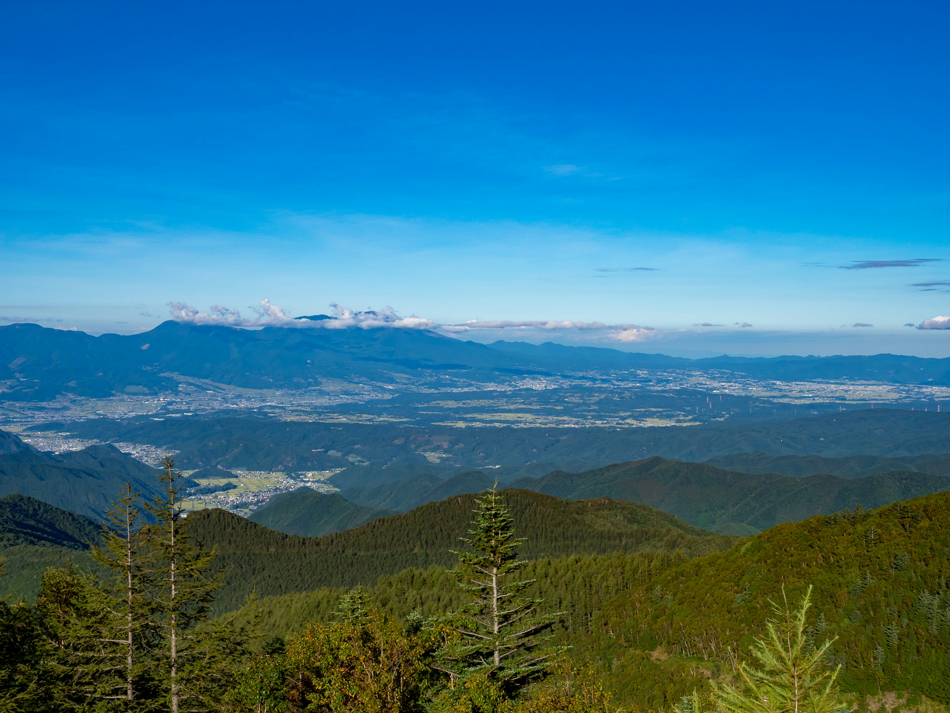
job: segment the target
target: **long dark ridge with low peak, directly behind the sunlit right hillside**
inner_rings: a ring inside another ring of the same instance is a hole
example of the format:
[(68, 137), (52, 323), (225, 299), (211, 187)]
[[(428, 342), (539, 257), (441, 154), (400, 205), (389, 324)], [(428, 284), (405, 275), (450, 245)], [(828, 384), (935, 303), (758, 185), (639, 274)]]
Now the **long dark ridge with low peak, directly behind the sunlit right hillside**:
[(697, 527), (745, 534), (750, 528), (767, 530), (816, 513), (843, 511), (856, 505), (875, 508), (948, 491), (950, 479), (901, 471), (859, 479), (835, 475), (791, 477), (723, 471), (705, 463), (655, 456), (597, 471), (521, 478), (508, 487), (572, 500), (601, 496), (630, 500), (674, 514)]

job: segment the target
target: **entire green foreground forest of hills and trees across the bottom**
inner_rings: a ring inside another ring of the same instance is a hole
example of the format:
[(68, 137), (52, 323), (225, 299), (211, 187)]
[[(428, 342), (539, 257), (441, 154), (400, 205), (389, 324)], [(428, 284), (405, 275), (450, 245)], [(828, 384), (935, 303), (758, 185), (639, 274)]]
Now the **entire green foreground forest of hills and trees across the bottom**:
[(729, 537), (489, 490), (299, 537), (183, 517), (174, 463), (160, 480), (147, 500), (126, 488), (104, 528), (0, 501), (7, 559), (50, 553), (35, 596), (0, 601), (0, 711), (950, 703), (947, 492)]

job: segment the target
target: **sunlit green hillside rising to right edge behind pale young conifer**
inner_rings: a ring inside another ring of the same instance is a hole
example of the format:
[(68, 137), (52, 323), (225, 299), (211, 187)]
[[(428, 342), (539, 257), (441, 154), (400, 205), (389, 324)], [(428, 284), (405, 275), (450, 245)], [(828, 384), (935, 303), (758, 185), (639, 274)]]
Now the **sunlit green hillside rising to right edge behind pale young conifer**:
[(730, 647), (761, 635), (768, 600), (783, 586), (797, 597), (813, 584), (811, 634), (816, 643), (838, 637), (828, 665), (844, 667), (847, 689), (911, 689), (950, 702), (948, 556), (950, 493), (816, 515), (634, 584), (603, 608), (585, 646), (601, 661), (616, 657), (615, 680), (647, 703), (636, 690), (637, 671), (652, 667), (646, 652), (660, 646), (677, 660), (709, 662), (678, 667), (677, 687), (688, 691)]

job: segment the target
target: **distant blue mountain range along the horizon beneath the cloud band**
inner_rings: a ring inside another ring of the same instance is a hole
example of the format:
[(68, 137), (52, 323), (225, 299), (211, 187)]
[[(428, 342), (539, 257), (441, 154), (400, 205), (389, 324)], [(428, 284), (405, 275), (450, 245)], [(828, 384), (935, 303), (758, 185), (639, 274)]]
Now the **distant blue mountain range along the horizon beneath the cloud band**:
[(950, 383), (950, 358), (686, 359), (552, 343), (484, 345), (411, 329), (247, 330), (171, 320), (138, 335), (101, 337), (10, 324), (0, 327), (0, 364), (0, 381), (8, 382), (0, 395), (11, 401), (155, 394), (174, 389), (179, 376), (250, 389), (302, 389), (328, 377), (391, 383), (397, 375), (461, 372), (491, 382), (592, 369), (715, 369), (782, 380)]

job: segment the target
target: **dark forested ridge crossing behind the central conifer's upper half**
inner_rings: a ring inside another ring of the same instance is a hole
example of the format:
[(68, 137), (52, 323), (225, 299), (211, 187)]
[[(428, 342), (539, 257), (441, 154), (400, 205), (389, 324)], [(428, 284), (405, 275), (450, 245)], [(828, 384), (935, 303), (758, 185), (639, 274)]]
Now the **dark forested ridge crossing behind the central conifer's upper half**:
[[(504, 491), (521, 531), (528, 559), (570, 553), (640, 549), (722, 549), (730, 538), (636, 503), (608, 498), (562, 501), (529, 491)], [(449, 549), (466, 534), (473, 495), (457, 495), (355, 530), (320, 538), (268, 530), (226, 511), (197, 511), (188, 518), (196, 543), (216, 548), (216, 565), (226, 569), (216, 609), (241, 605), (252, 591), (261, 597), (320, 587), (370, 586), (383, 574), (430, 565), (450, 566)]]

